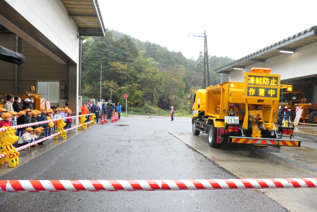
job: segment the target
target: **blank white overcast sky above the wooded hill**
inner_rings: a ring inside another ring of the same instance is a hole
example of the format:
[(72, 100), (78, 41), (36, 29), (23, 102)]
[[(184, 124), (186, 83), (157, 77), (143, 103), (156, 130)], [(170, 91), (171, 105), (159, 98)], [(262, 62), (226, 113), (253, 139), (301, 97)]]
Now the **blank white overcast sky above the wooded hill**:
[(98, 0), (105, 27), (197, 59), (209, 55), (242, 58), (317, 25), (316, 0), (187, 1)]

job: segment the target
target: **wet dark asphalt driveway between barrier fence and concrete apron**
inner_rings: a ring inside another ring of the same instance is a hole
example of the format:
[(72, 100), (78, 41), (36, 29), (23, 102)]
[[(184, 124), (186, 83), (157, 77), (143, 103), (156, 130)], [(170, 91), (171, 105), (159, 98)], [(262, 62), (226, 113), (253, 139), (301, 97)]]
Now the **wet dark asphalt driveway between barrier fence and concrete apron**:
[[(190, 118), (122, 117), (86, 130), (0, 179), (237, 178), (168, 131), (191, 131)], [(0, 211), (286, 211), (258, 190), (0, 193), (0, 204)]]

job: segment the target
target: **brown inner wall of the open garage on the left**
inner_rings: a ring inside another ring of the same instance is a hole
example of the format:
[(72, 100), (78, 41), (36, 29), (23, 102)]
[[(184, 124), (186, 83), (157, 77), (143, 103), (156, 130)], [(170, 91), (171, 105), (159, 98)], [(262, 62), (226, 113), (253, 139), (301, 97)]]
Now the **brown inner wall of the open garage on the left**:
[[(0, 45), (16, 51), (16, 35), (0, 34)], [(20, 65), (18, 73), (19, 95), (30, 91), (30, 86), (36, 87), (36, 81), (60, 81), (65, 85), (64, 98), (68, 98), (68, 65), (61, 65), (39, 51), (23, 39), (20, 39), (19, 50), (25, 56), (25, 62)], [(16, 65), (0, 61), (0, 93), (15, 93)], [(36, 90), (37, 91), (37, 90)], [(61, 90), (60, 99), (62, 98)]]

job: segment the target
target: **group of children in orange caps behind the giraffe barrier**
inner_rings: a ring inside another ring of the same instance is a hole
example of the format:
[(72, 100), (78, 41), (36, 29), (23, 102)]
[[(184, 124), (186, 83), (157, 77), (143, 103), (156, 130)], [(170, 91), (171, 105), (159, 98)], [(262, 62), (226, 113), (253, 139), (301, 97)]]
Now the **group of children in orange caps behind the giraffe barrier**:
[[(56, 108), (54, 111), (52, 109), (46, 110), (45, 108), (41, 108), (39, 110), (31, 110), (31, 109), (25, 109), (23, 111), (20, 111), (19, 113), (15, 111), (8, 112), (6, 109), (1, 108), (0, 109), (0, 127), (5, 126), (16, 126), (21, 124), (28, 124), (28, 123), (35, 123), (40, 121), (46, 121), (46, 120), (54, 120), (59, 118), (65, 118), (70, 117), (72, 114), (72, 111), (65, 108)], [(71, 127), (71, 124), (73, 122), (72, 118), (66, 119), (66, 126), (64, 129), (68, 129)], [(17, 141), (17, 145), (19, 147), (26, 145), (30, 142), (45, 138), (50, 136), (51, 134), (55, 133), (55, 125), (54, 122), (49, 122), (45, 124), (39, 124), (34, 125), (32, 127), (23, 127), (16, 130), (17, 136), (19, 137), (19, 140)], [(51, 140), (47, 139), (47, 140)], [(38, 147), (39, 145), (43, 145), (42, 142), (33, 145), (32, 147)], [(28, 148), (25, 148), (23, 150), (28, 150)]]

